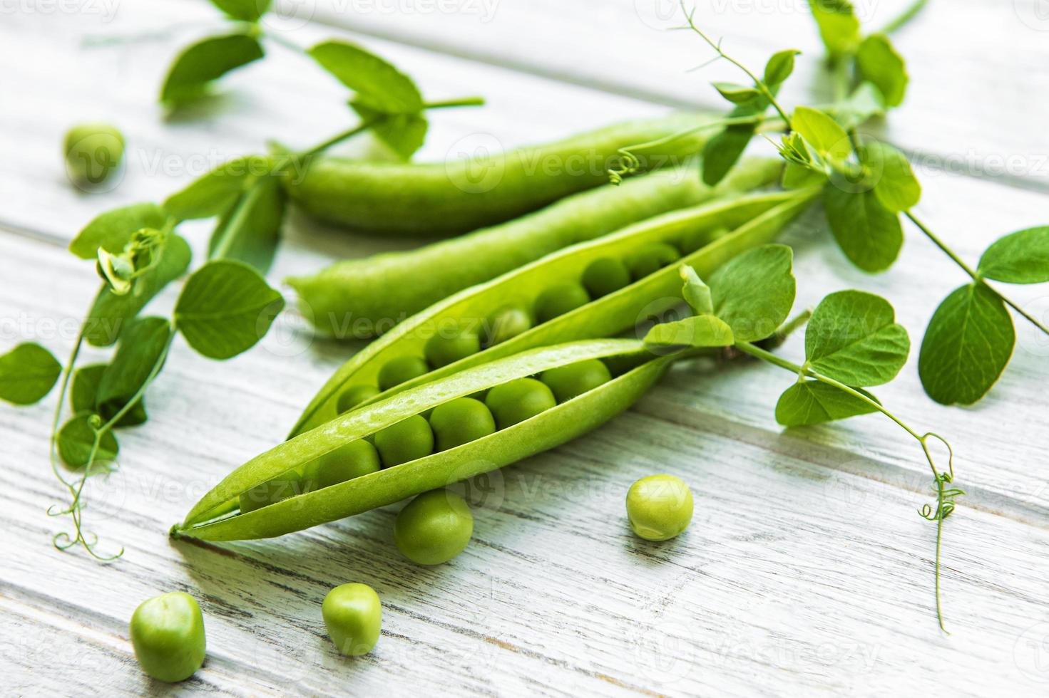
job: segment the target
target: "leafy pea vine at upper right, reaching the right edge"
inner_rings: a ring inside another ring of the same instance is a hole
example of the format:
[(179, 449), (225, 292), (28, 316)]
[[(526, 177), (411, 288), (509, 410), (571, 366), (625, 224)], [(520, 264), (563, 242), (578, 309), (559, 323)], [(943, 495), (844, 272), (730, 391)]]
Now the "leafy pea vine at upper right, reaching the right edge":
[[(822, 187), (828, 226), (853, 264), (870, 272), (892, 266), (903, 245), (902, 217), (969, 277), (969, 282), (951, 291), (929, 320), (919, 351), (918, 373), (934, 400), (971, 405), (990, 391), (1012, 356), (1016, 337), (1009, 308), (1049, 335), (1045, 323), (989, 283), (1049, 282), (1049, 226), (1029, 227), (999, 238), (973, 268), (915, 212), (921, 184), (906, 156), (859, 132), (859, 126), (870, 118), (903, 102), (908, 82), (906, 66), (887, 34), (903, 26), (923, 5), (915, 2), (882, 31), (864, 37), (849, 2), (811, 0), (827, 48), (826, 65), (835, 99), (821, 108), (798, 106), (792, 112), (776, 94), (793, 72), (794, 57), (799, 51), (775, 53), (758, 78), (695, 24), (694, 9), (686, 9), (683, 1), (686, 24), (679, 28), (693, 32), (712, 48), (712, 61), (731, 63), (751, 81), (750, 85), (713, 85), (733, 104), (729, 114), (733, 123), (707, 143), (702, 165), (704, 181), (712, 184), (725, 176), (758, 127), (770, 121), (766, 112), (771, 108), (776, 128), (785, 131), (773, 144), (786, 160), (784, 186)], [(621, 151), (625, 166), (609, 173), (612, 181), (621, 181), (624, 174), (633, 173), (628, 167), (631, 150)]]

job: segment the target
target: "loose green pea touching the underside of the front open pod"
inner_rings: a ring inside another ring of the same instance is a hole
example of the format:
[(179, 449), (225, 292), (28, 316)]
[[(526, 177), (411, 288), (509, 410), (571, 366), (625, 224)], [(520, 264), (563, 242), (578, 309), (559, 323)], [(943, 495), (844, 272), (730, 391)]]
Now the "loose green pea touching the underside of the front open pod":
[(473, 515), (463, 498), (431, 489), (408, 502), (393, 522), (393, 541), (408, 560), (440, 565), (463, 552), (473, 535)]

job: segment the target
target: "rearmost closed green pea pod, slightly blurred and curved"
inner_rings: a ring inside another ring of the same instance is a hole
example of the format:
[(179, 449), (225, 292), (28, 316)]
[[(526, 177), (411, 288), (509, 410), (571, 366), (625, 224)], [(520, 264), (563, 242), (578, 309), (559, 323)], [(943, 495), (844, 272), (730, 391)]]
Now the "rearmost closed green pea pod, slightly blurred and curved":
[(494, 136), (478, 134), (463, 145), (485, 154), (447, 162), (324, 157), (285, 183), (296, 203), (321, 220), (365, 233), (446, 237), (510, 220), (606, 183), (620, 148), (665, 139), (637, 149), (639, 169), (681, 166), (703, 150), (716, 129), (670, 136), (718, 118), (683, 112), (507, 152), (497, 152)]

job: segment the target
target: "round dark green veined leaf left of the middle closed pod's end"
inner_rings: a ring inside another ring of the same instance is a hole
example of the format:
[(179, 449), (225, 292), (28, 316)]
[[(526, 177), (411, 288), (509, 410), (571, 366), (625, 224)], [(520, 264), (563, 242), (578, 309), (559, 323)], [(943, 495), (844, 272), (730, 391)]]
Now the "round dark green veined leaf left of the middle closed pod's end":
[(175, 304), (175, 325), (197, 352), (230, 358), (265, 335), (284, 307), (280, 293), (241, 262), (208, 262), (189, 278)]

